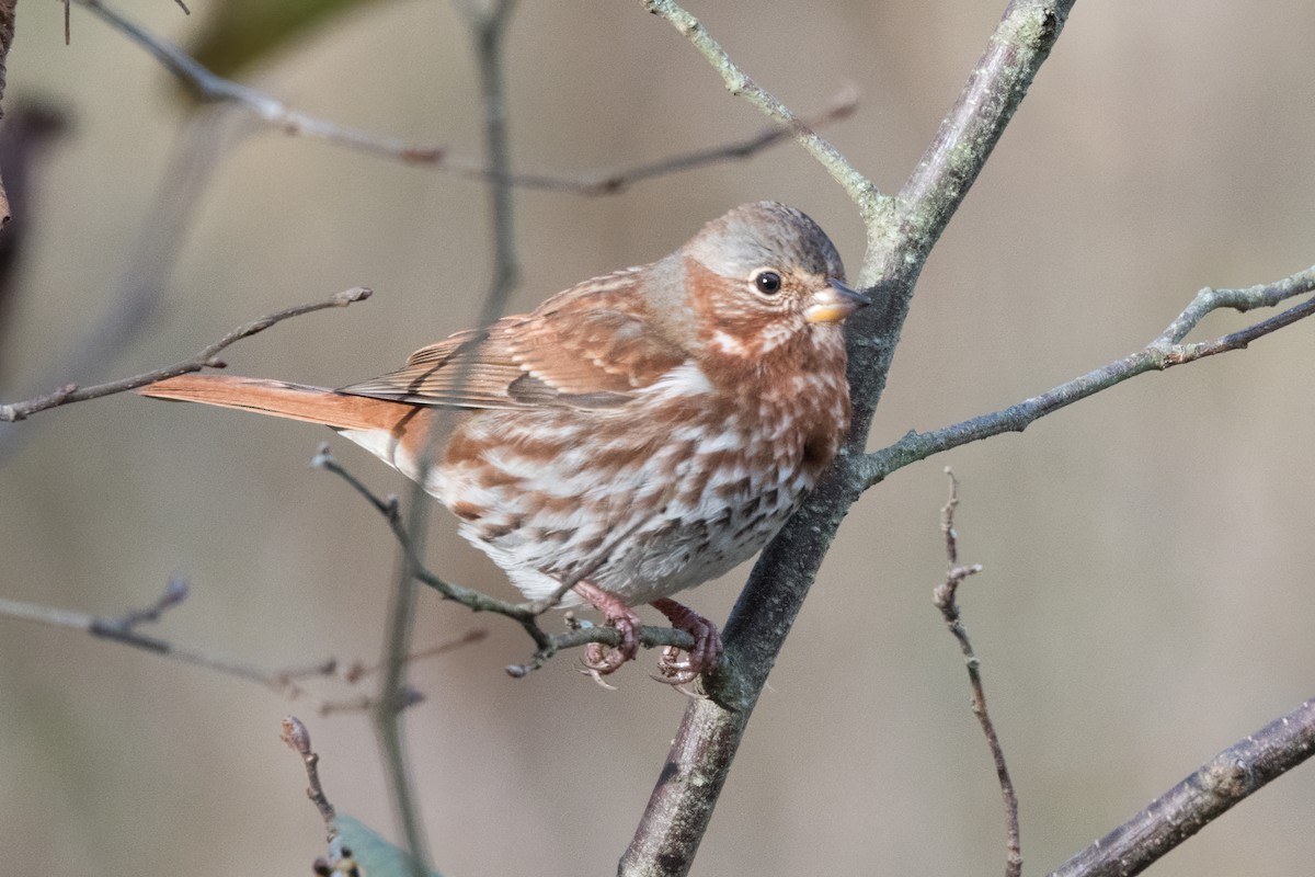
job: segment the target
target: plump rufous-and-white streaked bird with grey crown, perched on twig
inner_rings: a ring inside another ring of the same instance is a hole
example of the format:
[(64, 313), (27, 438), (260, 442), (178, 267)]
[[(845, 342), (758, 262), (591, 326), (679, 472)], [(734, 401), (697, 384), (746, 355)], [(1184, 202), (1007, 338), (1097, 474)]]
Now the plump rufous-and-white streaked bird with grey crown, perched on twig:
[(423, 479), (527, 600), (601, 611), (621, 644), (586, 651), (596, 678), (635, 657), (648, 604), (693, 636), (659, 661), (688, 682), (723, 644), (671, 596), (757, 554), (830, 465), (849, 427), (843, 322), (868, 304), (817, 222), (759, 201), (373, 380), (138, 392), (331, 427)]

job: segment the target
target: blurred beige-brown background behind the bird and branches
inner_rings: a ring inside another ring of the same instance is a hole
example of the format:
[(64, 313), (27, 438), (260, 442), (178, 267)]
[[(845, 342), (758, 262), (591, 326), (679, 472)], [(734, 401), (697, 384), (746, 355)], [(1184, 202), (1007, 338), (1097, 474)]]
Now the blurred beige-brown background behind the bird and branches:
[[(124, 0), (197, 45), (221, 9)], [(1001, 9), (903, 0), (696, 4), (801, 112), (844, 84), (827, 129), (894, 192)], [(1315, 262), (1315, 7), (1078, 4), (922, 276), (871, 446), (995, 410), (1140, 348), (1203, 285)], [(0, 398), (191, 356), (259, 314), (364, 284), (375, 297), (229, 350), (233, 373), (342, 385), (472, 325), (489, 279), (484, 188), (264, 131), (195, 195), (171, 181), (193, 110), (138, 46), (80, 8), (24, 7), (7, 113), (67, 117), (34, 168), (0, 337)], [(229, 41), (238, 38), (230, 37)], [(222, 41), (221, 41), (222, 42)], [(576, 175), (764, 125), (638, 3), (522, 3), (509, 32), (518, 170)], [(212, 63), (221, 63), (213, 60)], [(447, 3), (360, 4), (233, 74), (295, 107), (477, 156), (466, 20)], [(184, 162), (185, 163), (185, 162)], [(598, 199), (517, 193), (533, 308), (659, 258), (757, 199), (817, 218), (851, 266), (852, 206), (798, 149)], [(146, 242), (143, 245), (143, 242)], [(159, 297), (133, 280), (163, 271)], [(126, 292), (126, 295), (125, 295)], [(1243, 325), (1211, 317), (1197, 338)], [(126, 326), (126, 329), (125, 329)], [(853, 509), (772, 676), (697, 874), (994, 873), (1003, 818), (943, 576), (942, 467), (963, 481), (963, 593), (1022, 801), (1023, 855), (1051, 869), (1220, 748), (1312, 693), (1315, 326), (1147, 375), (1007, 435), (896, 473)], [(305, 425), (117, 396), (0, 438), (0, 593), (116, 615), (171, 575), (192, 597), (143, 632), (266, 667), (373, 661), (396, 550), (379, 515), (309, 468)], [(379, 492), (400, 479), (334, 452)], [(430, 564), (510, 597), (435, 514)], [(689, 602), (723, 619), (747, 569)], [(406, 714), (435, 864), (450, 874), (613, 873), (684, 709), (647, 678), (604, 692), (562, 656), (421, 594), (417, 646), (489, 636), (412, 671)], [(350, 697), (310, 684), (325, 697)], [(279, 719), (306, 721), (334, 803), (396, 836), (363, 714), (85, 635), (0, 619), (0, 838), (25, 874), (309, 873), (322, 827)], [(1157, 874), (1308, 873), (1315, 768), (1211, 824)], [(880, 863), (876, 865), (874, 863)]]

